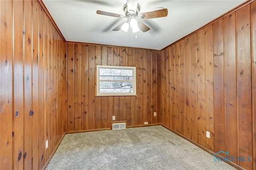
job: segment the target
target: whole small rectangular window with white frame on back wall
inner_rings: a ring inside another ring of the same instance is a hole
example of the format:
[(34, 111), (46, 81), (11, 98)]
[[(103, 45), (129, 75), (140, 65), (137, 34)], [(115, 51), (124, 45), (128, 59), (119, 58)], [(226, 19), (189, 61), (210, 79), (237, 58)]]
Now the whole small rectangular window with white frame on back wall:
[(136, 96), (136, 67), (97, 65), (96, 96)]

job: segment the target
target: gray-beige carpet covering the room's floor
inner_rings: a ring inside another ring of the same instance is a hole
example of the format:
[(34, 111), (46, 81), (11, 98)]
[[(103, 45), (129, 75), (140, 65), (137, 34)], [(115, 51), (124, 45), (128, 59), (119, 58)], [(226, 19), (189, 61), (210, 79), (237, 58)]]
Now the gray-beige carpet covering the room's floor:
[(46, 170), (235, 170), (162, 126), (67, 134)]

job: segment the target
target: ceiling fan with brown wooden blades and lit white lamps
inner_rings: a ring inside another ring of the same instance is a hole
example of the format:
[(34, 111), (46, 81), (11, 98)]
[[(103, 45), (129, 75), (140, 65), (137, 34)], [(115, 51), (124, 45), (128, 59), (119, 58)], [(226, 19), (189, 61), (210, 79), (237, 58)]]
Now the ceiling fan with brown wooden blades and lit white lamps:
[(116, 28), (113, 29), (113, 31), (123, 30), (127, 32), (130, 26), (132, 28), (133, 33), (138, 32), (140, 30), (142, 30), (142, 32), (147, 32), (148, 30), (150, 30), (150, 28), (148, 28), (148, 26), (146, 26), (143, 22), (137, 21), (137, 18), (159, 18), (167, 16), (168, 14), (168, 10), (166, 8), (139, 14), (140, 4), (138, 4), (138, 0), (127, 0), (127, 3), (124, 4), (123, 9), (125, 15), (114, 14), (111, 12), (105, 12), (100, 10), (97, 10), (96, 13), (100, 15), (113, 16), (117, 18), (127, 18), (126, 22), (122, 22), (121, 24), (119, 24)]

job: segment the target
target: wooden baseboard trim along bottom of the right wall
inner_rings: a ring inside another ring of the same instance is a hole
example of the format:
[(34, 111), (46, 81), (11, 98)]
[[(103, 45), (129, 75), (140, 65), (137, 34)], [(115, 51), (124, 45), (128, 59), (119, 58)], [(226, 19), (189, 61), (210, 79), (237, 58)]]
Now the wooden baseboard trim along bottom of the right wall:
[[(213, 155), (213, 154), (216, 154), (216, 153), (213, 152), (212, 150), (210, 150), (210, 149), (208, 149), (208, 148), (202, 146), (201, 144), (198, 144), (197, 142), (191, 140), (190, 138), (187, 138), (186, 136), (184, 136), (184, 135), (182, 135), (182, 134), (180, 134), (180, 133), (178, 133), (178, 132), (172, 130), (171, 128), (165, 126), (164, 124), (160, 124), (160, 125), (162, 125), (162, 126), (163, 126), (164, 128), (166, 128), (166, 129), (170, 130), (171, 132), (177, 134), (178, 136), (180, 136), (180, 137), (182, 137), (182, 138), (188, 140), (188, 142), (190, 142), (190, 143), (196, 145), (197, 147), (201, 148), (202, 150), (208, 152), (209, 154), (212, 154), (212, 155)], [(221, 157), (221, 156), (218, 155), (218, 154), (217, 154), (217, 156), (218, 156), (218, 157)], [(246, 169), (244, 169), (243, 167), (239, 166), (238, 164), (235, 164), (234, 162), (226, 162), (226, 163), (227, 163), (227, 164), (230, 164), (231, 166), (233, 166), (234, 168), (236, 168), (236, 169), (238, 169), (238, 170), (246, 170)]]

